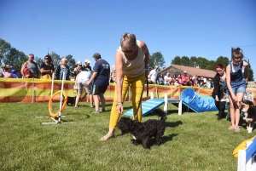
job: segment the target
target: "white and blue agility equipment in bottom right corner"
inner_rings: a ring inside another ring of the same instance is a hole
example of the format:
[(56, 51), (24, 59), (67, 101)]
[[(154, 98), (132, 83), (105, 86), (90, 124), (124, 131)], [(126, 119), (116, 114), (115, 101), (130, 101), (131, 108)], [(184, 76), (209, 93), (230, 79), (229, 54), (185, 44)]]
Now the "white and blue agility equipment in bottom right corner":
[(237, 159), (237, 171), (256, 170), (256, 139), (247, 141), (247, 148), (239, 150)]

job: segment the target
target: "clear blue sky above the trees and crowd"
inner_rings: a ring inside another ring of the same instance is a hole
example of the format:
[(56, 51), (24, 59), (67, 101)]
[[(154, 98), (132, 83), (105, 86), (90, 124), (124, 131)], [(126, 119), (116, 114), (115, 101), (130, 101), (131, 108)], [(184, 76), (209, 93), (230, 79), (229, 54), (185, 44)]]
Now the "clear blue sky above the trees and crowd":
[(25, 54), (43, 58), (49, 48), (91, 66), (96, 52), (114, 64), (125, 31), (161, 52), (166, 66), (177, 55), (230, 58), (240, 46), (255, 77), (255, 9), (254, 0), (1, 0), (0, 37)]

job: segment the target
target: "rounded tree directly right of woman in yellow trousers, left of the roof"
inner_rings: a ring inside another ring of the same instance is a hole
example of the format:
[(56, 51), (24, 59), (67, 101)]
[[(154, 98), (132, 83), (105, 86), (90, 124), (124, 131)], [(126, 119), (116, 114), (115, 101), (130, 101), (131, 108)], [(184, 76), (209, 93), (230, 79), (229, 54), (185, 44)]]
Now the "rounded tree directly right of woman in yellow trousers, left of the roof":
[(159, 70), (164, 69), (166, 66), (166, 60), (164, 59), (163, 54), (160, 52), (155, 52), (149, 56), (148, 59), (148, 71), (154, 69), (154, 66), (159, 66)]

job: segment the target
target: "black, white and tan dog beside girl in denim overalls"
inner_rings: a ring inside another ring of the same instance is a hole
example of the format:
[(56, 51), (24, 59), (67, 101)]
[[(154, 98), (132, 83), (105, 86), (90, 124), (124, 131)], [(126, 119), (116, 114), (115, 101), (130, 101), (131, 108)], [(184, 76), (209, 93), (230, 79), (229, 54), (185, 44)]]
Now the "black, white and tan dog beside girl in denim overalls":
[(256, 106), (253, 106), (253, 102), (250, 100), (242, 100), (241, 111), (244, 114), (243, 119), (247, 123), (247, 131), (248, 133), (252, 133), (254, 123), (256, 122)]

